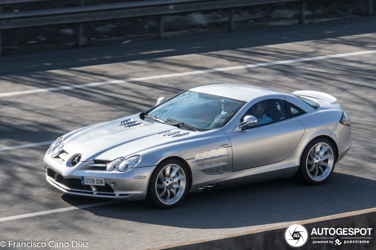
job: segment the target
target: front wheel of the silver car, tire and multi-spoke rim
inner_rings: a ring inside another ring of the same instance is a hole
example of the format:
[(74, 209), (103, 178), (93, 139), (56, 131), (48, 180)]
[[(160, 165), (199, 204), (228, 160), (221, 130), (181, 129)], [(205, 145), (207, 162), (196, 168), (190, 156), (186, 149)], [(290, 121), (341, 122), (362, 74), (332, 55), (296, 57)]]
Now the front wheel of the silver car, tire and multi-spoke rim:
[(168, 209), (178, 206), (188, 191), (189, 175), (178, 160), (166, 160), (153, 171), (147, 199), (156, 207)]

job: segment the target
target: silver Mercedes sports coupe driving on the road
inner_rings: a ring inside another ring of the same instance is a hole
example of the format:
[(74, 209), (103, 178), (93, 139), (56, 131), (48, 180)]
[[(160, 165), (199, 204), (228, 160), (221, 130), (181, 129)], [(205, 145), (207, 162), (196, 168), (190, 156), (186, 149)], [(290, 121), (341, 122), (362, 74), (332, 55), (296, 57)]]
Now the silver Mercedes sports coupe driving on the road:
[(336, 100), (242, 84), (191, 88), (58, 138), (44, 156), (47, 181), (73, 195), (147, 198), (160, 208), (187, 192), (292, 175), (322, 184), (351, 146)]

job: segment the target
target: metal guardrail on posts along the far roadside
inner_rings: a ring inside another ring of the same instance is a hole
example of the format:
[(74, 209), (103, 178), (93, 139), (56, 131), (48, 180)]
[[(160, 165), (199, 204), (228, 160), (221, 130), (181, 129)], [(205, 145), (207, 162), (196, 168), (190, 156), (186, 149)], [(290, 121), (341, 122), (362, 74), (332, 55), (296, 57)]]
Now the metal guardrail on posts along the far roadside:
[[(46, 0), (0, 0), (0, 5), (32, 1)], [(367, 14), (372, 15), (373, 0), (365, 1), (367, 1)], [(83, 6), (84, 0), (79, 0), (79, 6), (77, 7), (0, 13), (0, 55), (1, 30), (6, 29), (77, 23), (77, 47), (81, 47), (83, 22), (158, 15), (158, 38), (161, 38), (164, 31), (164, 15), (202, 10), (229, 9), (229, 31), (233, 31), (235, 8), (285, 2), (299, 2), (300, 23), (304, 23), (304, 0), (147, 0), (93, 6)]]

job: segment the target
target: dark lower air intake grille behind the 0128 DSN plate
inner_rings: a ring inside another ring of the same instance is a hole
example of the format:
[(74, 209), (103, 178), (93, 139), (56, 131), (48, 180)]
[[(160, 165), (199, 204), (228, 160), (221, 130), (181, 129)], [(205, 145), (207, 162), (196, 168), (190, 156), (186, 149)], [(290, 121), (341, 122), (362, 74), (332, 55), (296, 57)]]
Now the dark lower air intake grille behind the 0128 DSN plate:
[[(89, 185), (82, 185), (81, 179), (77, 178), (64, 178), (62, 175), (57, 174), (52, 169), (47, 169), (47, 175), (53, 179), (55, 179), (56, 182), (63, 184), (66, 187), (69, 187), (71, 189), (79, 189), (79, 190), (85, 190), (89, 192), (94, 192)], [(55, 177), (56, 176), (56, 177)], [(114, 190), (105, 183), (105, 186), (95, 186), (96, 192), (106, 192), (106, 193), (115, 193)]]

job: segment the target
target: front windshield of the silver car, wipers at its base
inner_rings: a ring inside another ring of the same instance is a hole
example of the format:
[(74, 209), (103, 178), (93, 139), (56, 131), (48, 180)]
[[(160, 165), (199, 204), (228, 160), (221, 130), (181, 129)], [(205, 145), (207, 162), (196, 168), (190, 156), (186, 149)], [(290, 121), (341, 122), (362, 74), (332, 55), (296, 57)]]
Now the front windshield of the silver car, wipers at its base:
[(164, 121), (167, 118), (188, 124), (199, 130), (223, 127), (245, 102), (212, 94), (185, 91), (147, 113)]

